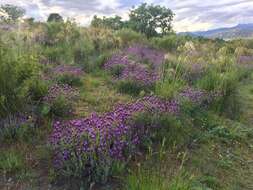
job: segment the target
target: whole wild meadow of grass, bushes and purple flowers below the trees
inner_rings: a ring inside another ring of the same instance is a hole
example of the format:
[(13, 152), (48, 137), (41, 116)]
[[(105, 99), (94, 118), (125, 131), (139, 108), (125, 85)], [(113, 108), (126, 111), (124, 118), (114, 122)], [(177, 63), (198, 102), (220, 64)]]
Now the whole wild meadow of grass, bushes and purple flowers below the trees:
[(253, 189), (253, 39), (1, 24), (0, 189)]

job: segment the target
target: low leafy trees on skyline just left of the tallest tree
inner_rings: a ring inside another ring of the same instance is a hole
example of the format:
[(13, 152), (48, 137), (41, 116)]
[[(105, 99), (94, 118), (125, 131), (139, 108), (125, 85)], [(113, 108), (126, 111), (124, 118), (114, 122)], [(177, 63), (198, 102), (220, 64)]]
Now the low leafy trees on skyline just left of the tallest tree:
[(124, 22), (120, 16), (115, 17), (103, 17), (99, 18), (96, 15), (93, 17), (91, 21), (91, 26), (98, 28), (110, 28), (113, 30), (119, 30), (124, 27)]

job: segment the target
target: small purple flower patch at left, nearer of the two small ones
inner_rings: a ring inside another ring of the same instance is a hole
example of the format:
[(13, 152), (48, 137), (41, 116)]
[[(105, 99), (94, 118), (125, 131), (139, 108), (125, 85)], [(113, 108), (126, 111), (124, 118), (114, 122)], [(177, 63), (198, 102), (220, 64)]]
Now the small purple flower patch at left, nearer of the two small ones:
[(43, 98), (43, 101), (51, 103), (59, 96), (64, 96), (67, 100), (73, 100), (78, 95), (78, 90), (67, 84), (54, 84), (49, 88), (48, 94)]

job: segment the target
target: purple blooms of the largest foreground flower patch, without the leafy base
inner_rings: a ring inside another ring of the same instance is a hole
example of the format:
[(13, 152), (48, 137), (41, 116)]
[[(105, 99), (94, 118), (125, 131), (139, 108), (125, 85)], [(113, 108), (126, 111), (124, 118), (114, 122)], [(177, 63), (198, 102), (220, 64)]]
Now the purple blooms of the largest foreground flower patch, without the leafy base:
[(114, 111), (102, 116), (92, 114), (85, 119), (55, 122), (50, 142), (55, 150), (56, 166), (64, 167), (64, 163), (72, 159), (73, 153), (88, 160), (95, 157), (109, 157), (112, 160), (126, 158), (124, 153), (133, 150), (142, 137), (142, 130), (129, 120), (135, 114), (150, 110), (176, 114), (179, 105), (176, 101), (150, 96), (134, 103), (118, 105)]

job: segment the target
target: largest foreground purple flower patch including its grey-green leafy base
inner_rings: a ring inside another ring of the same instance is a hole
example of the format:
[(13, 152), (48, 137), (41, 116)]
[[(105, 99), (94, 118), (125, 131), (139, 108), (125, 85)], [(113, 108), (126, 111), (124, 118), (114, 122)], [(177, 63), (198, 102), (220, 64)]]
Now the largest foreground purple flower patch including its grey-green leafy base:
[(118, 106), (102, 116), (93, 114), (86, 119), (55, 122), (51, 144), (55, 150), (56, 169), (67, 177), (82, 179), (86, 176), (88, 184), (93, 181), (106, 182), (112, 164), (128, 160), (143, 136), (143, 130), (129, 124), (128, 120), (135, 113), (150, 108), (167, 113), (178, 111), (175, 102), (146, 97), (129, 105)]

